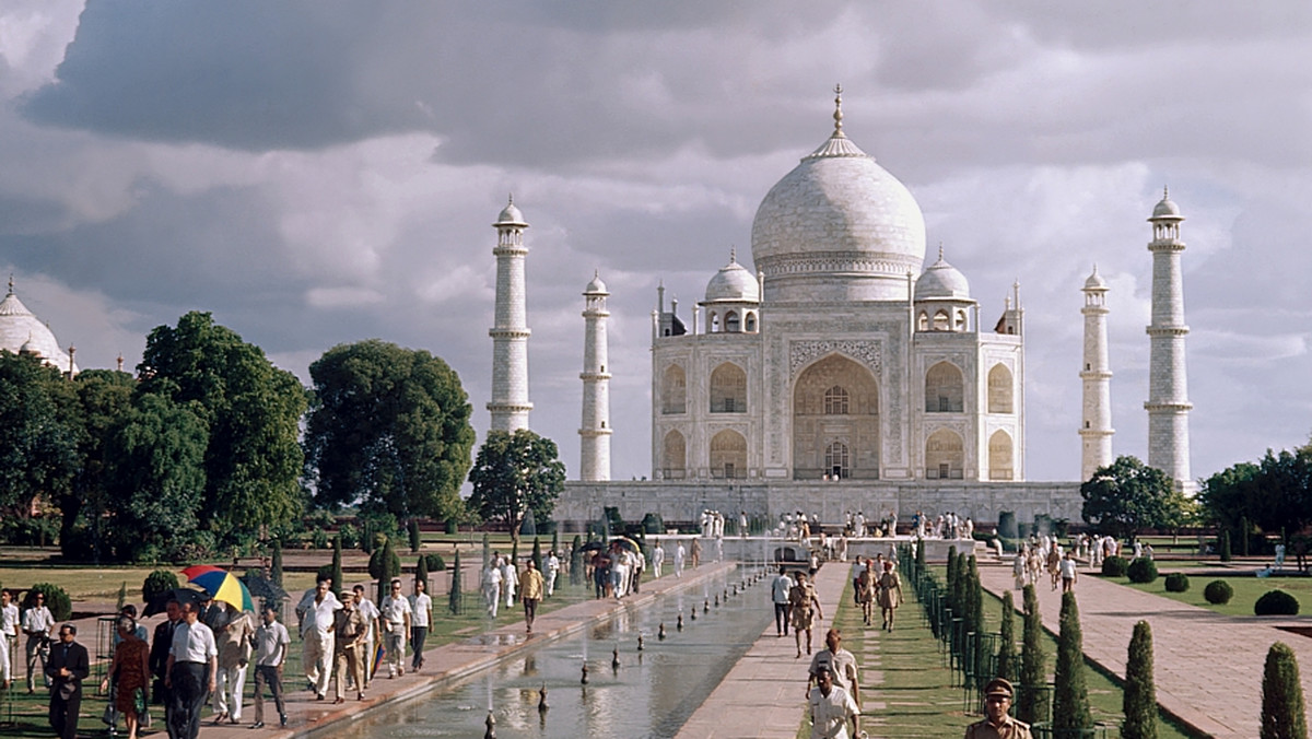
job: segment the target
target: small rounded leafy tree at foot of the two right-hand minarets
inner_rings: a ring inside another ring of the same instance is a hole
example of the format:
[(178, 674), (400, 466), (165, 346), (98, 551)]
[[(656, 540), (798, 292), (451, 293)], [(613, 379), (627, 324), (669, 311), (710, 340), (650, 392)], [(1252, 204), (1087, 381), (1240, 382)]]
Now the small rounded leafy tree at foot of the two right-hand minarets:
[(1081, 516), (1097, 530), (1134, 541), (1140, 529), (1168, 529), (1189, 521), (1191, 504), (1166, 473), (1135, 457), (1117, 457), (1080, 486)]

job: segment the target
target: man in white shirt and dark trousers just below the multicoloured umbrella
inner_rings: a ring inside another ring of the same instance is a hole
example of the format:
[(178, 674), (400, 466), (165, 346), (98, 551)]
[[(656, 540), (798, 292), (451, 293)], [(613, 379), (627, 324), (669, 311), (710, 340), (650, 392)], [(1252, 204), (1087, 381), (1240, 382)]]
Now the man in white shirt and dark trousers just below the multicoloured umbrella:
[(201, 732), (201, 707), (214, 692), (219, 667), (219, 648), (214, 631), (199, 621), (199, 606), (182, 604), (182, 622), (173, 630), (168, 651), (168, 677), (164, 684), (173, 701), (169, 709), (169, 734), (173, 739), (195, 739)]

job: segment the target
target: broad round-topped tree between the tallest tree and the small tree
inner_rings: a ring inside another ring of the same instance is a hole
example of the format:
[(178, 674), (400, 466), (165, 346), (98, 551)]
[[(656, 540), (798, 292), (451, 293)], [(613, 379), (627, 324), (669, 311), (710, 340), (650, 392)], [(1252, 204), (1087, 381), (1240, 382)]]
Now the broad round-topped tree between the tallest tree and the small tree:
[(316, 503), (459, 516), (474, 428), (455, 370), (428, 352), (374, 339), (333, 347), (310, 365), (310, 377), (306, 471)]

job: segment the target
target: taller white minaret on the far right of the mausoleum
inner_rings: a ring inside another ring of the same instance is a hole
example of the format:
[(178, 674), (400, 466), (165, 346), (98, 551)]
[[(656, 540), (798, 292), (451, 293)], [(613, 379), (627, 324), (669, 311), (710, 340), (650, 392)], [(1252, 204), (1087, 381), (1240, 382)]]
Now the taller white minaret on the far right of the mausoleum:
[(1179, 222), (1185, 217), (1162, 190), (1152, 210), (1152, 324), (1148, 327), (1148, 465), (1166, 473), (1176, 487), (1195, 488), (1189, 475), (1189, 382), (1185, 375), (1185, 290), (1179, 274)]

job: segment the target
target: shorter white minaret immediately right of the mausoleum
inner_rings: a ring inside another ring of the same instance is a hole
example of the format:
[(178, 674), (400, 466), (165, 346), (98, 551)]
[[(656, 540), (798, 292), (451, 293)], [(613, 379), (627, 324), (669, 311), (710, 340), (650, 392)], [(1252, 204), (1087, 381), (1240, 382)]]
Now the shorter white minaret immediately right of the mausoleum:
[(1080, 480), (1111, 465), (1111, 369), (1107, 362), (1107, 284), (1093, 265), (1084, 282), (1084, 417), (1080, 424)]

